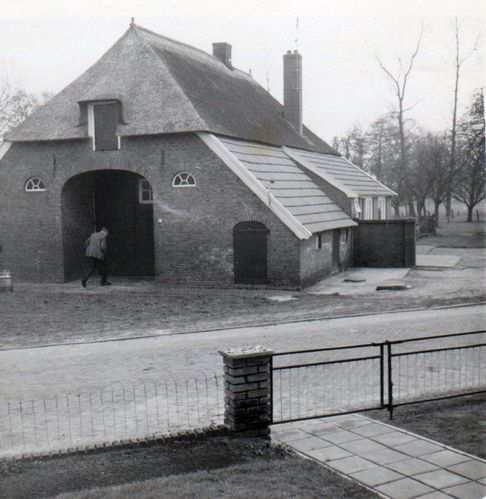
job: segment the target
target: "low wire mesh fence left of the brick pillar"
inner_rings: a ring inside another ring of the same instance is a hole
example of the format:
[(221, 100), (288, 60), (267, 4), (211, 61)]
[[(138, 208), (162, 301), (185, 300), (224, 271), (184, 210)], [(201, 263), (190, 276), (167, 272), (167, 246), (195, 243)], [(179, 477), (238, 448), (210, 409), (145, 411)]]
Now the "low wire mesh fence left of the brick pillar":
[(114, 383), (42, 400), (0, 400), (0, 456), (44, 453), (222, 424), (223, 376)]

